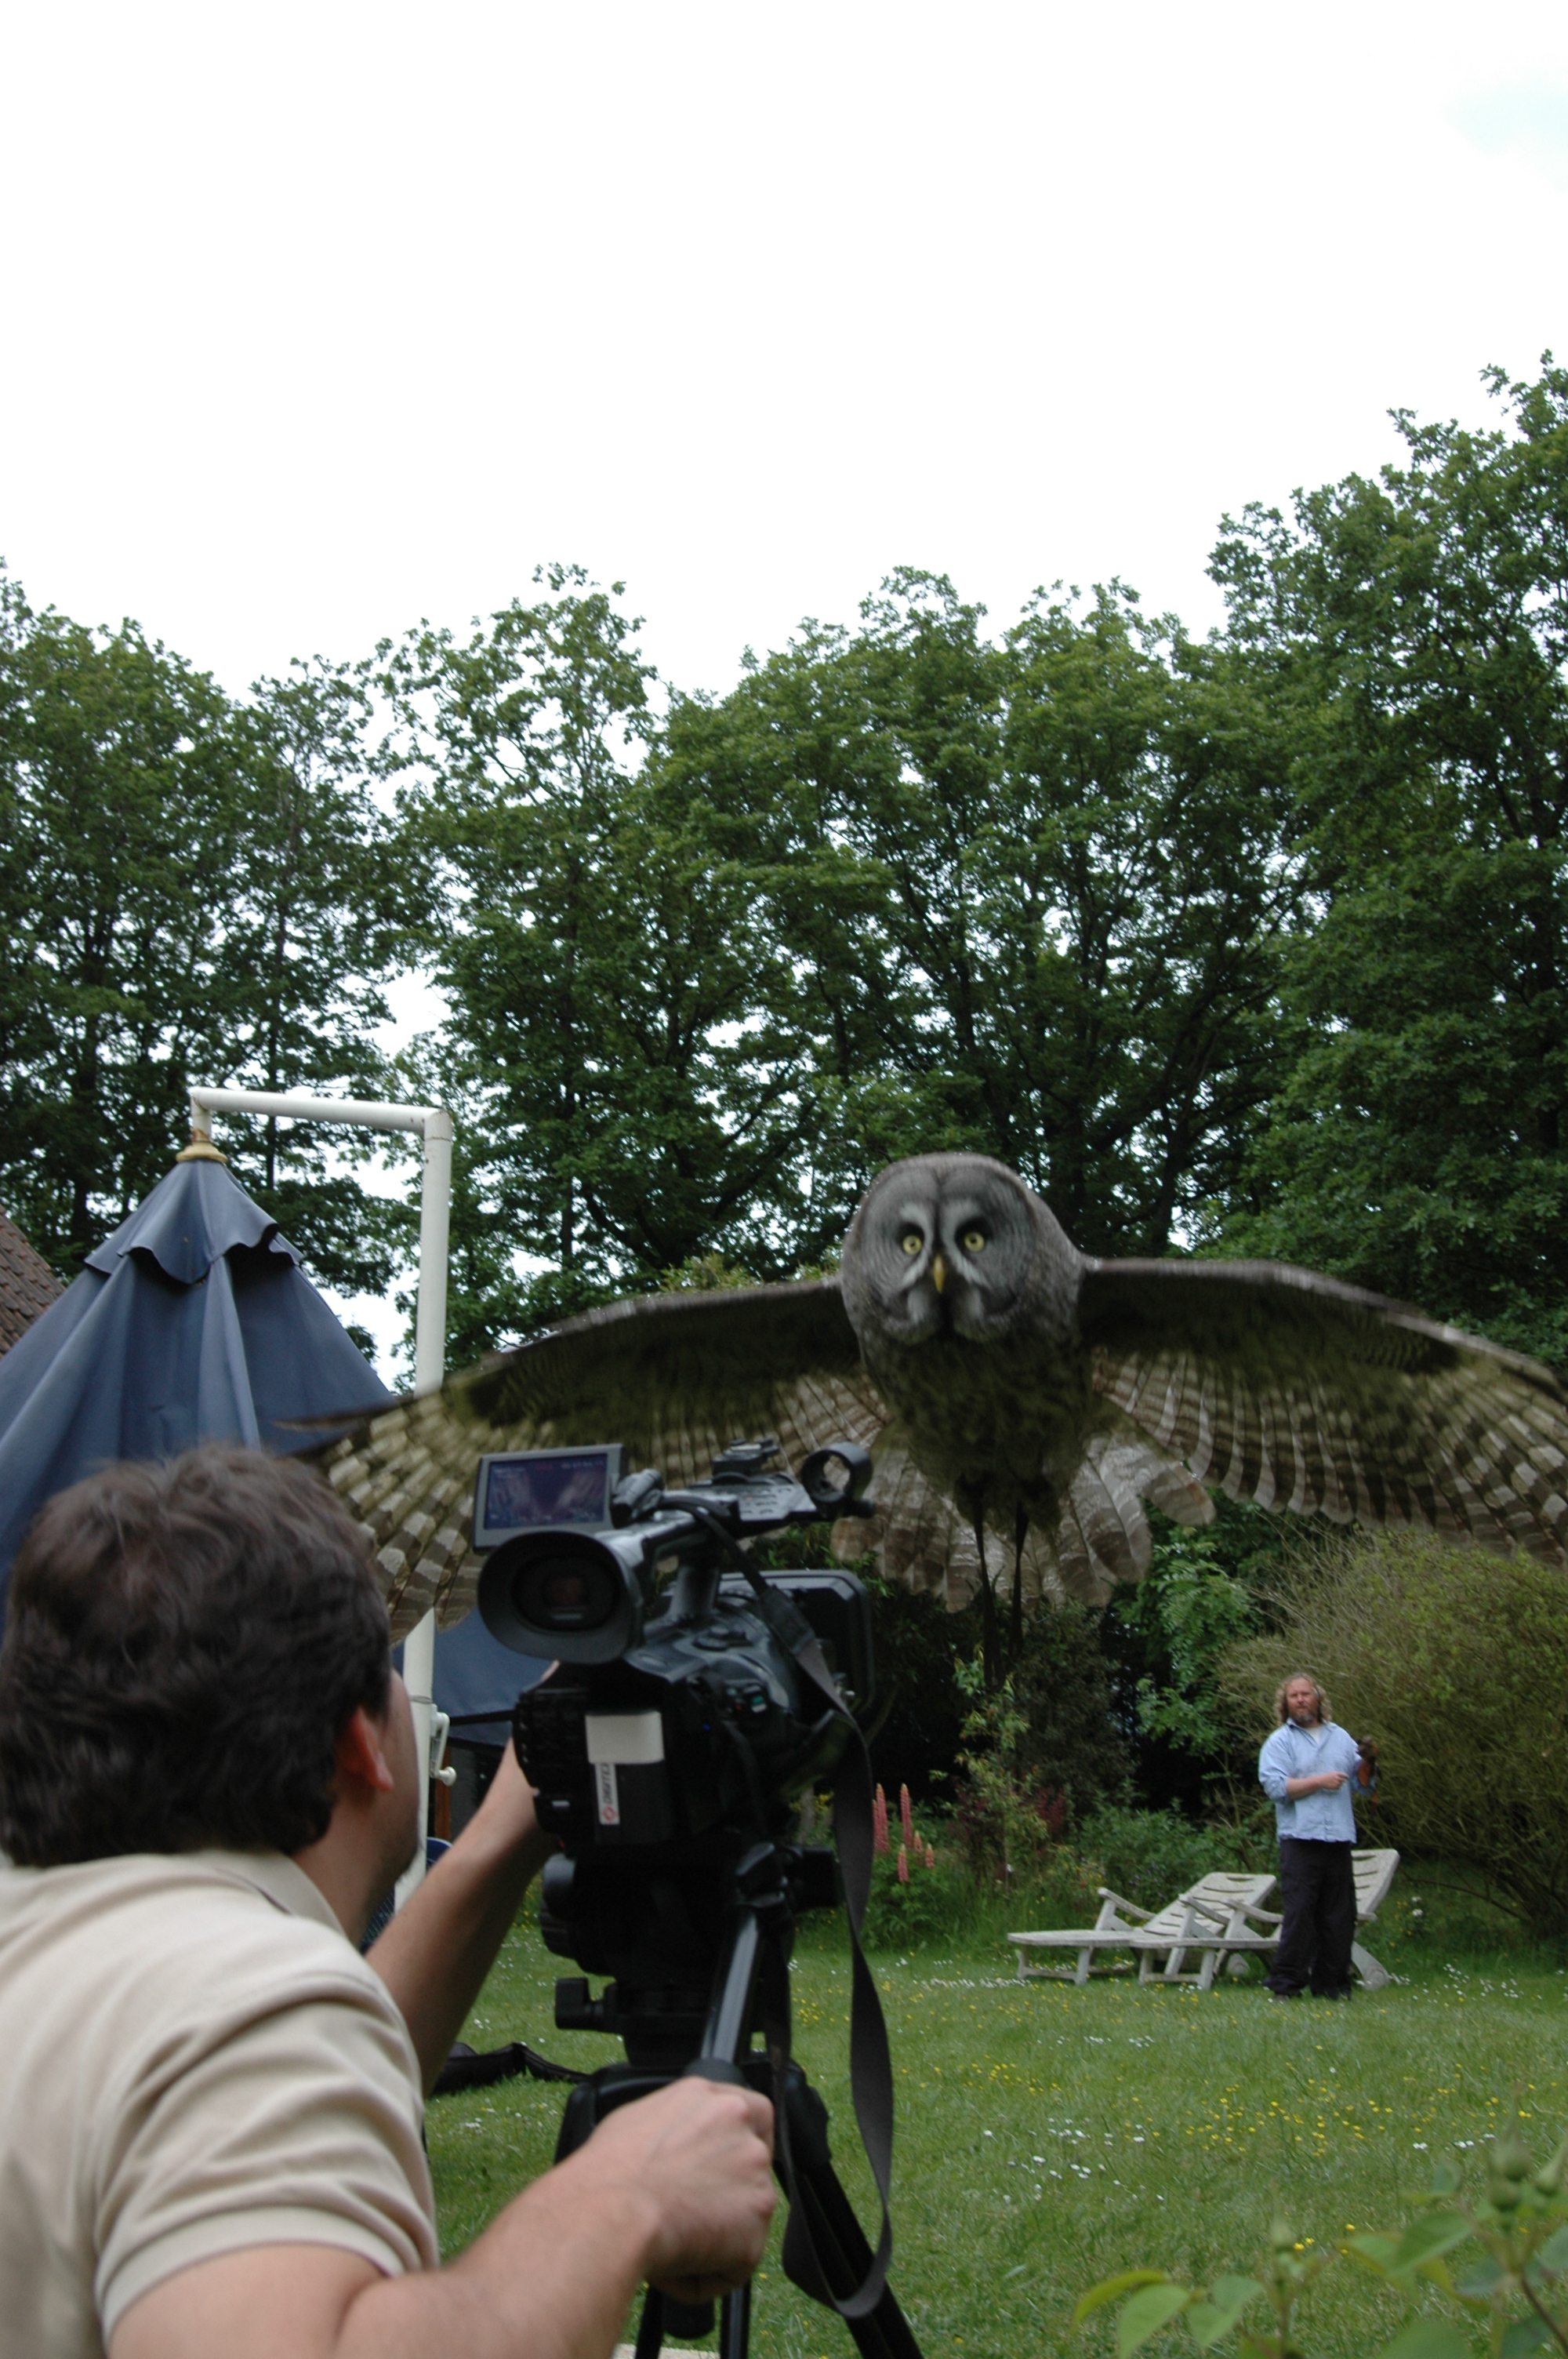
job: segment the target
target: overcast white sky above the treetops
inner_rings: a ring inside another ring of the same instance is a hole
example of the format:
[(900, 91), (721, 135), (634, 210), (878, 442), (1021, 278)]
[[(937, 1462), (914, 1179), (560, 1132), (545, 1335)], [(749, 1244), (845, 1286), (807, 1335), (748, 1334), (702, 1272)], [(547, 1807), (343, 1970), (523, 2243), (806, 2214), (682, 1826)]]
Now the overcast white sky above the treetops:
[(0, 0), (0, 554), (231, 686), (561, 557), (724, 689), (1568, 351), (1568, 9)]

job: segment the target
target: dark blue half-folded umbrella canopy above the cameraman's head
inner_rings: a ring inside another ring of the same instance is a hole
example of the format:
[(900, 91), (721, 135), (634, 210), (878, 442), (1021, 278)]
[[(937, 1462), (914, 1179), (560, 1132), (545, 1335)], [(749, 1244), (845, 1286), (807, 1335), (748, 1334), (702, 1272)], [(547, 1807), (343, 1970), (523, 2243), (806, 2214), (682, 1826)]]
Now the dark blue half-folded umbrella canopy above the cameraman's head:
[(321, 1448), (283, 1420), (391, 1394), (217, 1156), (174, 1163), (0, 1359), (0, 1606), (45, 1498), (196, 1441)]

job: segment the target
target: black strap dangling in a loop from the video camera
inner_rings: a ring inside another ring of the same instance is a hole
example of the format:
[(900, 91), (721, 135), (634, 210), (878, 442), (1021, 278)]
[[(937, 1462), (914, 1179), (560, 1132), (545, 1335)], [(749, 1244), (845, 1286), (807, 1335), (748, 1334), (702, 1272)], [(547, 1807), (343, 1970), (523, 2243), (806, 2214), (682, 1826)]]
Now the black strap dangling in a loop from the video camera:
[(882, 2300), (882, 2288), (887, 2286), (887, 2265), (894, 2253), (894, 2222), (889, 2213), (889, 2194), (894, 2180), (894, 2059), (887, 2045), (887, 2019), (882, 2015), (882, 2000), (877, 1996), (877, 1982), (865, 1963), (865, 1951), (861, 1949), (861, 1927), (865, 1925), (865, 1904), (870, 1899), (870, 1864), (872, 1864), (872, 1779), (870, 1779), (870, 1753), (865, 1750), (865, 1736), (861, 1724), (844, 1703), (837, 1680), (828, 1670), (828, 1658), (823, 1656), (821, 1640), (806, 1616), (799, 1611), (792, 1597), (780, 1595), (769, 1588), (750, 1557), (736, 1548), (733, 1538), (717, 1517), (705, 1510), (696, 1510), (700, 1522), (724, 1548), (724, 1555), (738, 1571), (745, 1573), (752, 1595), (757, 1597), (757, 1611), (773, 1632), (780, 1647), (785, 1647), (811, 1684), (823, 1694), (828, 1706), (844, 1720), (849, 1743), (839, 1757), (839, 1769), (835, 1776), (835, 1809), (832, 1828), (839, 1847), (839, 1875), (844, 1882), (844, 1916), (849, 1918), (849, 1953), (851, 1953), (851, 1986), (849, 1986), (849, 2095), (856, 2111), (856, 2128), (861, 2133), (861, 2144), (865, 2147), (865, 2161), (870, 2163), (870, 2175), (877, 2184), (877, 2201), (882, 2203), (882, 2234), (877, 2236), (877, 2248), (872, 2253), (870, 2269), (854, 2288), (854, 2293), (837, 2295), (828, 2284), (821, 2255), (816, 2250), (816, 2236), (811, 2232), (811, 2217), (806, 2206), (799, 2201), (799, 2189), (795, 2180), (795, 2163), (790, 2156), (790, 2125), (788, 2107), (783, 2102), (785, 2069), (790, 2064), (790, 1977), (788, 1970), (773, 1974), (764, 1970), (762, 1979), (762, 2015), (764, 2015), (764, 2038), (769, 2043), (769, 2055), (773, 2062), (773, 2090), (776, 2090), (776, 2137), (778, 2137), (778, 2163), (785, 2182), (785, 2194), (790, 2196), (790, 2222), (785, 2229), (785, 2269), (804, 2291), (809, 2291), (818, 2302), (830, 2302), (844, 2319), (863, 2319)]

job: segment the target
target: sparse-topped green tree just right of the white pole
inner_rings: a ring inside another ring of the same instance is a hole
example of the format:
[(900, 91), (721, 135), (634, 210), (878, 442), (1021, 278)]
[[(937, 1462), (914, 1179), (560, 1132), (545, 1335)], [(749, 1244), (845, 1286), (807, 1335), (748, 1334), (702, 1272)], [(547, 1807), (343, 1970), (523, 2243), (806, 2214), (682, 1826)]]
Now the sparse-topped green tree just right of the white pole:
[[(420, 630), (380, 658), (406, 830), (448, 892), (441, 1057), (488, 1293), (469, 1345), (710, 1250), (766, 1267), (797, 1137), (757, 892), (639, 760), (637, 625), (575, 571), (542, 585), (462, 644)], [(516, 1281), (516, 1253), (547, 1272)]]

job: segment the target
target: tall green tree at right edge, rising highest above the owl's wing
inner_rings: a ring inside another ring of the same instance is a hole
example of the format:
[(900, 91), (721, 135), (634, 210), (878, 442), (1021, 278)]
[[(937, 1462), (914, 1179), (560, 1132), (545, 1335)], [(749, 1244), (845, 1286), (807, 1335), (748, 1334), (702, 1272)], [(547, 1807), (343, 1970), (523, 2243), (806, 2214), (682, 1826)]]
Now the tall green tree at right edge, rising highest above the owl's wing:
[(1316, 906), (1224, 1234), (1568, 1361), (1568, 373), (1488, 385), (1217, 552)]

